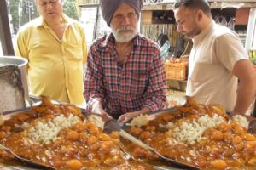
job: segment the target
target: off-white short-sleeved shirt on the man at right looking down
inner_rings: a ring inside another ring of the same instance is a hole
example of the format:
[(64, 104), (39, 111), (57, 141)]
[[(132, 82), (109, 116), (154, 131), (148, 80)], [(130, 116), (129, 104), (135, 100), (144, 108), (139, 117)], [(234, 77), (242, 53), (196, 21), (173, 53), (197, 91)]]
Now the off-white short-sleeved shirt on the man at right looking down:
[(186, 94), (198, 103), (220, 104), (226, 111), (233, 111), (238, 80), (232, 70), (236, 61), (248, 59), (240, 38), (212, 20), (193, 41)]

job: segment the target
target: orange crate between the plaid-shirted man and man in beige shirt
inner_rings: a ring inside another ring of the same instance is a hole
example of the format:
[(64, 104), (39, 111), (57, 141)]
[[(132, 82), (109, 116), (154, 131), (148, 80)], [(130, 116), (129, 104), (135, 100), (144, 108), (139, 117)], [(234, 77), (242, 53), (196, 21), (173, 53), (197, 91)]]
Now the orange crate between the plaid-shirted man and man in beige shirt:
[(165, 63), (166, 79), (186, 80), (188, 65), (184, 63)]

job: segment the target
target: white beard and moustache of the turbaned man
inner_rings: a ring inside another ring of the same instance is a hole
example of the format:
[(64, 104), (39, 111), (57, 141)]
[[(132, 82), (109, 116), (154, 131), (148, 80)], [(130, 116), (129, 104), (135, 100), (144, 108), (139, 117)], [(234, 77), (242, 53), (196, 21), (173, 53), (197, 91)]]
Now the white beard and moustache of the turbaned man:
[[(113, 33), (113, 37), (117, 42), (123, 42), (123, 43), (130, 42), (132, 38), (134, 38), (137, 34), (137, 25), (135, 28), (131, 26), (122, 26), (122, 27), (119, 27), (119, 29), (117, 30), (114, 30), (112, 25), (110, 27)], [(131, 32), (125, 32), (125, 33), (119, 32), (119, 31), (126, 31), (126, 30), (129, 30)]]

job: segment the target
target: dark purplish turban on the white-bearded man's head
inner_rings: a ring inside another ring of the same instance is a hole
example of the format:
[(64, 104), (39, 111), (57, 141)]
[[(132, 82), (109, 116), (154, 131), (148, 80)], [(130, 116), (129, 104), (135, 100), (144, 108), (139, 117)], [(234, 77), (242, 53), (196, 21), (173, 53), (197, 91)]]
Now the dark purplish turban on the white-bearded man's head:
[(103, 19), (107, 22), (108, 26), (110, 26), (113, 13), (122, 3), (126, 3), (131, 8), (134, 8), (137, 14), (137, 18), (139, 18), (140, 11), (143, 8), (143, 0), (100, 0), (102, 16)]

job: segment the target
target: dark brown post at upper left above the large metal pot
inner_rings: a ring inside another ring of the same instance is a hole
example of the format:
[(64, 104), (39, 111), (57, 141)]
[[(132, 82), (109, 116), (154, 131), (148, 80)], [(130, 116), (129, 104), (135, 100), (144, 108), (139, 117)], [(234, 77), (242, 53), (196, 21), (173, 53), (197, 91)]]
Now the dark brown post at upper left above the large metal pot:
[(9, 17), (6, 0), (0, 0), (0, 40), (3, 48), (3, 55), (15, 55), (9, 29)]

